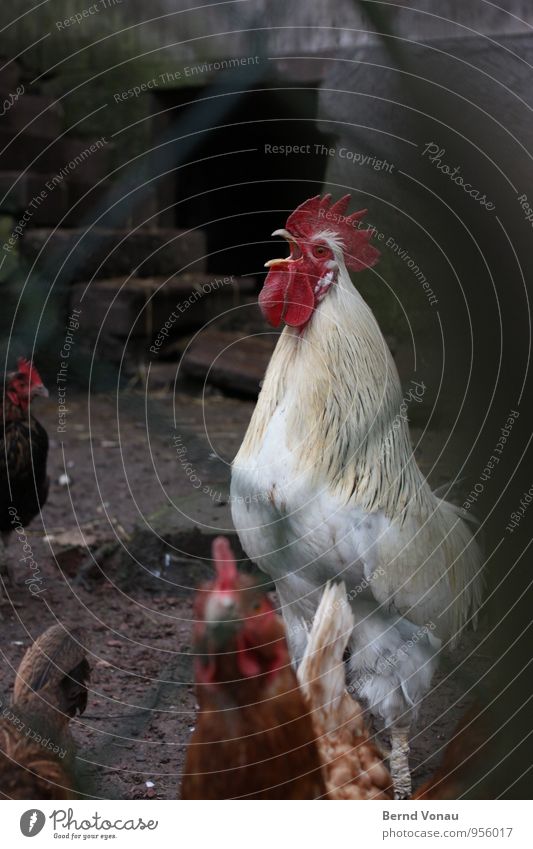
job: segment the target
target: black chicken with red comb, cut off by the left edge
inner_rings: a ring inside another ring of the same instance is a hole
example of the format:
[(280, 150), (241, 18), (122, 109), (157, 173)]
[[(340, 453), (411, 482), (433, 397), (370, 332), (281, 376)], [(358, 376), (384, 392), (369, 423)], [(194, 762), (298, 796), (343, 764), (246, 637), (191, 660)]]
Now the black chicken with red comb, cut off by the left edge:
[(20, 358), (6, 376), (0, 443), (0, 531), (4, 537), (36, 516), (48, 495), (48, 436), (29, 412), (32, 398), (48, 397), (37, 369)]

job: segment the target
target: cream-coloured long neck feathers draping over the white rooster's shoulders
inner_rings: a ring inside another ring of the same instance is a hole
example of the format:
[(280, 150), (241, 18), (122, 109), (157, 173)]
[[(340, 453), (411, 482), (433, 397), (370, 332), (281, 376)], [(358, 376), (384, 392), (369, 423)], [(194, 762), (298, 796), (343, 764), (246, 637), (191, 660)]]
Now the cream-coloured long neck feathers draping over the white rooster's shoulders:
[(337, 245), (332, 247), (337, 281), (303, 333), (285, 327), (235, 464), (258, 449), (283, 403), (287, 447), (318, 486), (368, 512), (397, 517), (411, 505), (425, 513), (434, 509), (434, 496), (400, 416), (396, 366)]

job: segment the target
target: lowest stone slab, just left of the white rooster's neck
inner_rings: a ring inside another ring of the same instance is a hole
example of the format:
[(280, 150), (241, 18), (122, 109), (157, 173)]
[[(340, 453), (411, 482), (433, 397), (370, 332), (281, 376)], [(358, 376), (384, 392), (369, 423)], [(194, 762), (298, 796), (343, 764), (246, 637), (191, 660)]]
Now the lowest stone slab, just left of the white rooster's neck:
[(227, 392), (257, 397), (278, 335), (243, 336), (207, 329), (186, 351), (181, 366), (189, 377), (207, 380)]

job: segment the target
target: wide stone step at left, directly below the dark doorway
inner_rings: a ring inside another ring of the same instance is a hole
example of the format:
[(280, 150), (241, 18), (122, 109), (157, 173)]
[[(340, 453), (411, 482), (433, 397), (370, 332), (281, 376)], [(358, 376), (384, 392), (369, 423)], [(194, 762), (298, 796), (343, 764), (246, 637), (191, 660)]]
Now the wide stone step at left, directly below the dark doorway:
[(69, 252), (61, 272), (62, 280), (69, 283), (132, 273), (135, 277), (175, 275), (192, 265), (195, 271), (203, 271), (206, 264), (200, 230), (28, 228), (20, 240), (20, 253), (30, 263), (40, 254), (42, 264), (53, 261), (54, 267), (60, 267)]

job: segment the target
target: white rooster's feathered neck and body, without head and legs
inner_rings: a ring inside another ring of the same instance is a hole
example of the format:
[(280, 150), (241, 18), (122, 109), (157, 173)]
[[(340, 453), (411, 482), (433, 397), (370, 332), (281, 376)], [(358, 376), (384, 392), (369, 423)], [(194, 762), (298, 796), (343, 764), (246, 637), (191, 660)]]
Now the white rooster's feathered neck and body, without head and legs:
[(479, 551), (420, 472), (401, 401), (377, 323), (339, 276), (305, 337), (285, 328), (272, 356), (234, 461), (234, 522), (284, 598), (290, 582), (302, 607), (332, 576), (349, 594), (365, 583), (358, 597), (455, 641), (479, 605)]

